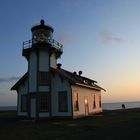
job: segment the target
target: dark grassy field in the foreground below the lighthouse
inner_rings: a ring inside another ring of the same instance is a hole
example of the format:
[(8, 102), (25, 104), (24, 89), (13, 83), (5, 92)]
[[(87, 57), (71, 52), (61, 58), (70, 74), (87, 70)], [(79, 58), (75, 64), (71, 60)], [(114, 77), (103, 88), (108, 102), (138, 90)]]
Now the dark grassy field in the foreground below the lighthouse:
[(104, 111), (77, 120), (32, 122), (16, 112), (0, 112), (0, 140), (129, 140), (139, 139), (140, 109)]

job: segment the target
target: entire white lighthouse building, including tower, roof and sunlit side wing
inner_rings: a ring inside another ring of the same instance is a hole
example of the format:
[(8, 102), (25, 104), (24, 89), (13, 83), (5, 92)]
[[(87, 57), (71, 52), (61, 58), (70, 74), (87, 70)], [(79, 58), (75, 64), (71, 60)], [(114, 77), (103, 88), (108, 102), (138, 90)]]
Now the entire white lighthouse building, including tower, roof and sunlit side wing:
[(40, 24), (31, 28), (32, 40), (23, 42), (28, 71), (11, 90), (17, 91), (17, 114), (31, 119), (78, 118), (102, 112), (97, 82), (57, 64), (63, 46), (52, 39), (53, 28)]

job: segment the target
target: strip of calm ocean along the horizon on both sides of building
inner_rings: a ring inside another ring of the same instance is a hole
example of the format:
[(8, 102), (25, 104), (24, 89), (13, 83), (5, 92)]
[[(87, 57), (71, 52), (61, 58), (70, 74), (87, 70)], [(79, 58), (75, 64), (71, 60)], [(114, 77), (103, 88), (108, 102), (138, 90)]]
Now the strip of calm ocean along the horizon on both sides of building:
[[(103, 103), (102, 107), (104, 110), (116, 110), (122, 109), (122, 104), (125, 108), (140, 108), (140, 102), (118, 102), (118, 103)], [(16, 106), (0, 106), (0, 110), (16, 110)]]

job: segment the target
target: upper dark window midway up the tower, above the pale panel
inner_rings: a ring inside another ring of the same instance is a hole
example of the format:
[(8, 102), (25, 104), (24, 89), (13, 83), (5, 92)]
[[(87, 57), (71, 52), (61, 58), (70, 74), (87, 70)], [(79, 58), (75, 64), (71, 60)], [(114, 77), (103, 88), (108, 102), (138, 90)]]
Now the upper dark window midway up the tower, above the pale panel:
[(39, 85), (49, 84), (49, 72), (39, 72)]

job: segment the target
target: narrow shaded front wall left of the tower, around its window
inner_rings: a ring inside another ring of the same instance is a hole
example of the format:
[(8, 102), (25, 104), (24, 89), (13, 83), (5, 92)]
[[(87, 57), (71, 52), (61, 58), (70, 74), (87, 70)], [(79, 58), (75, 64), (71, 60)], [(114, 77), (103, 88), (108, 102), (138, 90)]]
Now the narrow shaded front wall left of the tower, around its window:
[(28, 81), (26, 80), (22, 85), (19, 86), (17, 96), (17, 114), (18, 116), (27, 116), (27, 112), (21, 112), (21, 95), (27, 95), (28, 93)]

